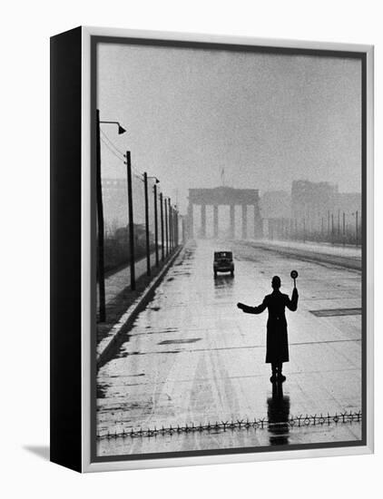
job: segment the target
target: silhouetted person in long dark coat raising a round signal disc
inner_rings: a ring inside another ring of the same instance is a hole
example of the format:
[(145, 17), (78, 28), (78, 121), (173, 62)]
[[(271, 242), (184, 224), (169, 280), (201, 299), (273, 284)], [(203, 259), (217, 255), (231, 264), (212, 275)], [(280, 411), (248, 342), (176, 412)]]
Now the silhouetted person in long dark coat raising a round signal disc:
[(285, 381), (286, 377), (282, 375), (283, 362), (289, 362), (289, 341), (287, 332), (287, 320), (285, 308), (295, 311), (298, 308), (298, 289), (294, 285), (291, 299), (288, 295), (280, 292), (280, 278), (274, 276), (271, 280), (273, 289), (270, 295), (263, 298), (263, 302), (258, 307), (249, 307), (243, 303), (238, 303), (247, 314), (261, 314), (268, 308), (269, 319), (267, 323), (266, 339), (266, 363), (271, 364), (272, 376), (271, 382)]

